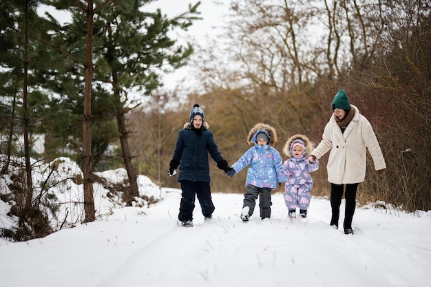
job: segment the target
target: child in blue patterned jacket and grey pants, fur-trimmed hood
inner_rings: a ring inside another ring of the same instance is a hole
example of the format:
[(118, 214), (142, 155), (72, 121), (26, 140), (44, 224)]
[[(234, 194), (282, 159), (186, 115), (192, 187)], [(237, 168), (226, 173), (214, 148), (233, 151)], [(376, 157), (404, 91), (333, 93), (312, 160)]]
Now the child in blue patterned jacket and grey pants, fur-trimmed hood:
[(255, 200), (259, 197), (260, 217), (262, 220), (271, 217), (271, 191), (286, 181), (283, 160), (277, 149), (275, 128), (264, 123), (257, 123), (247, 136), (252, 147), (235, 162), (228, 176), (234, 176), (244, 167), (250, 165), (245, 182), (246, 192), (241, 209), (241, 219), (249, 221), (255, 209)]

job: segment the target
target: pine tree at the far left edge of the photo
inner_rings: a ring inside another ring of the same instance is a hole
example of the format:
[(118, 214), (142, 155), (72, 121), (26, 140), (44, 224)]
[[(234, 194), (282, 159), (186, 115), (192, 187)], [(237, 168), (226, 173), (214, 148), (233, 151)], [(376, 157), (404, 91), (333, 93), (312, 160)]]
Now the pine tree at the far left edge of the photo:
[[(43, 213), (43, 206), (34, 200), (32, 182), (32, 164), (30, 161), (31, 134), (38, 128), (37, 120), (32, 113), (30, 100), (36, 91), (37, 83), (33, 74), (36, 67), (50, 65), (52, 62), (41, 51), (41, 42), (37, 39), (46, 34), (44, 21), (36, 14), (40, 1), (2, 1), (1, 2), (1, 45), (0, 45), (0, 81), (2, 103), (8, 112), (8, 159), (2, 167), (2, 173), (8, 173), (12, 156), (12, 135), (23, 135), (23, 155), (25, 172), (22, 187), (11, 195), (17, 202), (14, 212), (19, 217), (19, 235), (17, 239), (45, 236), (50, 233), (48, 216)], [(20, 151), (17, 155), (21, 156)]]

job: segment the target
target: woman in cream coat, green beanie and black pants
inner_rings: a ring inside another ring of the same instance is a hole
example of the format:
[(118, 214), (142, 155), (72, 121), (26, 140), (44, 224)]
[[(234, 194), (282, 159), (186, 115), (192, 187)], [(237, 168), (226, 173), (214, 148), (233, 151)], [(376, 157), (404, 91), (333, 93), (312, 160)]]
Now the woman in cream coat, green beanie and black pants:
[(339, 206), (346, 187), (343, 227), (345, 234), (353, 234), (356, 191), (358, 184), (365, 179), (366, 149), (372, 157), (376, 171), (383, 172), (386, 163), (370, 122), (359, 114), (357, 107), (350, 105), (343, 89), (335, 95), (332, 107), (333, 116), (326, 124), (322, 141), (311, 152), (311, 156), (313, 159), (319, 159), (330, 151), (326, 165), (332, 208), (330, 226), (338, 229)]

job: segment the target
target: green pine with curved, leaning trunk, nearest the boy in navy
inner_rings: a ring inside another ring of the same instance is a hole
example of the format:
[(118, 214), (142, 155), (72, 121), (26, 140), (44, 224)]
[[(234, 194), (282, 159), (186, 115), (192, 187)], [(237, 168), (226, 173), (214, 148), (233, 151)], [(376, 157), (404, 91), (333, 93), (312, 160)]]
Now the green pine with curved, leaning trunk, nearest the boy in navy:
[[(112, 9), (105, 9), (99, 15), (99, 32), (103, 33), (100, 55), (94, 69), (94, 79), (112, 85), (113, 107), (116, 113), (123, 161), (129, 178), (129, 191), (123, 200), (131, 204), (138, 196), (136, 172), (129, 151), (126, 114), (139, 105), (140, 98), (133, 99), (133, 92), (149, 95), (160, 87), (162, 72), (185, 64), (192, 52), (191, 46), (176, 45), (176, 40), (168, 36), (174, 28), (187, 29), (197, 19), (196, 6), (174, 19), (162, 16), (160, 10), (143, 12), (139, 8), (148, 1), (122, 3)], [(173, 51), (173, 52), (171, 52)], [(99, 52), (97, 54), (99, 54)]]

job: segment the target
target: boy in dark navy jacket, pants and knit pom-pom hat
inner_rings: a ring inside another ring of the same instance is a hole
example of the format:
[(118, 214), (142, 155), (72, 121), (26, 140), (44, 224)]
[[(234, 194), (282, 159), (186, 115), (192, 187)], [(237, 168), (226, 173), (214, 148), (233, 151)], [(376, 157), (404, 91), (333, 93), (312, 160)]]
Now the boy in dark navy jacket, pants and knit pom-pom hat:
[(225, 173), (230, 170), (208, 128), (209, 125), (204, 122), (204, 110), (199, 105), (194, 105), (190, 111), (190, 122), (178, 134), (174, 156), (169, 163), (169, 176), (174, 176), (178, 165), (180, 166), (177, 181), (181, 183), (182, 198), (178, 220), (185, 227), (193, 226), (196, 196), (205, 220), (211, 219), (215, 209), (209, 187), (211, 178), (208, 153), (217, 162), (219, 169)]

